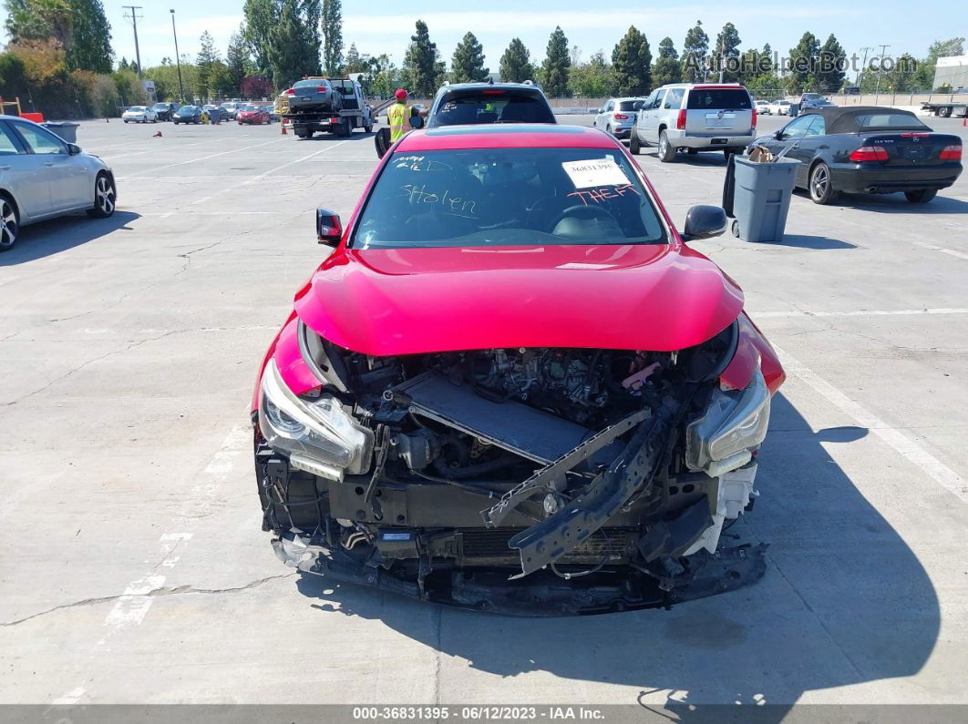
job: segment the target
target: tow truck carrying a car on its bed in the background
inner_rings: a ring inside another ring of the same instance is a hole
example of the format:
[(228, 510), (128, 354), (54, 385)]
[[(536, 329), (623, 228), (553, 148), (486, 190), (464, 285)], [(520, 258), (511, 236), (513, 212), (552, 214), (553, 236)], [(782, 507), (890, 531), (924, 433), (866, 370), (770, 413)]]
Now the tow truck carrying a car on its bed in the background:
[(293, 108), (288, 101), (288, 95), (291, 95), (289, 91), (293, 90), (291, 88), (276, 101), (276, 113), (299, 138), (312, 138), (317, 131), (341, 136), (348, 136), (353, 129), (363, 129), (369, 133), (378, 122), (379, 110), (393, 102), (386, 101), (371, 107), (357, 81), (346, 76), (319, 79), (328, 81), (337, 92), (339, 101), (334, 105), (339, 107)]

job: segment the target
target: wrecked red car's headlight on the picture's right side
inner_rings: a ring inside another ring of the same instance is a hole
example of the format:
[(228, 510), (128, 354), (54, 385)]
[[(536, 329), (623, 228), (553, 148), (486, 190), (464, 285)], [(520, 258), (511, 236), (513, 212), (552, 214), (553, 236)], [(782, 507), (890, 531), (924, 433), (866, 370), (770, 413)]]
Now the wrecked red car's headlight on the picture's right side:
[(745, 390), (712, 392), (705, 414), (686, 427), (685, 463), (703, 470), (763, 443), (770, 424), (770, 390), (757, 369)]

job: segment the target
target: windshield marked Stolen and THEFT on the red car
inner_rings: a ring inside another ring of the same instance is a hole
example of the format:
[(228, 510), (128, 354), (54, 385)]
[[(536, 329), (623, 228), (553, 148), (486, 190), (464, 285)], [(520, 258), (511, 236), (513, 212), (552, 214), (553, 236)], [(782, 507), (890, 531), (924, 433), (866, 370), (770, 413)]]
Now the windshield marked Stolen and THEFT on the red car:
[(650, 197), (618, 150), (397, 153), (350, 246), (663, 244)]

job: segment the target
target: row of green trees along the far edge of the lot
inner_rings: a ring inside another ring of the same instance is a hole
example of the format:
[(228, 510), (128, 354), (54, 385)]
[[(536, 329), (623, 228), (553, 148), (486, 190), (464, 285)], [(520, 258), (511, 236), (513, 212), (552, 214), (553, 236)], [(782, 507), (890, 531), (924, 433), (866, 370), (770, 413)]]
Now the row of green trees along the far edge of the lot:
[[(346, 48), (341, 0), (245, 0), (243, 21), (224, 55), (205, 31), (194, 58), (166, 57), (143, 69), (126, 58), (115, 64), (102, 0), (3, 1), (10, 43), (0, 53), (0, 95), (19, 96), (48, 115), (112, 115), (119, 105), (144, 102), (138, 71), (155, 82), (159, 100), (171, 101), (271, 98), (304, 75), (344, 73), (359, 73), (371, 96), (385, 98), (404, 87), (427, 98), (444, 80), (491, 76), (484, 47), (472, 32), (457, 44), (448, 65), (423, 20), (415, 23), (400, 68), (386, 54), (363, 55), (354, 43)], [(853, 83), (864, 93), (907, 92), (931, 87), (938, 57), (963, 52), (963, 38), (937, 41), (920, 61), (905, 55), (890, 69), (862, 69), (851, 78), (848, 61), (856, 57), (848, 59), (832, 34), (821, 43), (804, 32), (780, 58), (769, 43), (741, 49), (740, 32), (731, 22), (711, 38), (697, 20), (681, 52), (669, 37), (653, 52), (646, 34), (631, 25), (611, 54), (600, 49), (588, 59), (558, 26), (543, 58), (532, 59), (525, 43), (512, 38), (496, 71), (505, 81), (534, 80), (551, 97), (645, 96), (665, 83), (706, 80), (741, 82), (758, 95), (834, 93)]]

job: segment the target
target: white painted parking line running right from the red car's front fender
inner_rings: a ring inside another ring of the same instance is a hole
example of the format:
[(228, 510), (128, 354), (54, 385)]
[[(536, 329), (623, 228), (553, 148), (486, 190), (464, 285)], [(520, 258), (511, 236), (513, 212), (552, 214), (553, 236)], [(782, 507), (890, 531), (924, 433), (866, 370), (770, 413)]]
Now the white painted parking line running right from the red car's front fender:
[(921, 468), (925, 475), (934, 479), (935, 482), (952, 493), (962, 503), (968, 503), (968, 481), (961, 478), (921, 445), (873, 413), (867, 411), (862, 405), (852, 400), (843, 392), (837, 390), (831, 383), (805, 364), (787, 352), (784, 352), (776, 345), (773, 345), (773, 349), (776, 350), (776, 354), (779, 356), (780, 362), (783, 363), (783, 368), (787, 373), (799, 377), (803, 382), (813, 388), (814, 391), (826, 397), (844, 414), (856, 420), (858, 424), (867, 428), (874, 435), (877, 435), (902, 457), (906, 458), (918, 468)]

